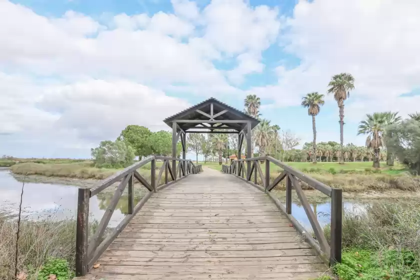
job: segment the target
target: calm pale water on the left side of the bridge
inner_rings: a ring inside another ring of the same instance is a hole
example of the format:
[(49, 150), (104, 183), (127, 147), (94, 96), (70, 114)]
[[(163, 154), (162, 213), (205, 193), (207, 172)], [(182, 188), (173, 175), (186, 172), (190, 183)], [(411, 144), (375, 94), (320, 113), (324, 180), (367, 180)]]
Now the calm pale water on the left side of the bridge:
[[(0, 211), (17, 213), (22, 182), (17, 181), (8, 170), (0, 170)], [(100, 220), (112, 194), (99, 193), (90, 198), (90, 218)], [(134, 200), (138, 200), (136, 197)], [(135, 201), (134, 201), (135, 202)], [(128, 200), (122, 196), (112, 214), (109, 226), (116, 226), (127, 211)], [(25, 182), (22, 199), (23, 216), (30, 219), (53, 215), (63, 219), (75, 217), (77, 210), (77, 187), (50, 183)]]

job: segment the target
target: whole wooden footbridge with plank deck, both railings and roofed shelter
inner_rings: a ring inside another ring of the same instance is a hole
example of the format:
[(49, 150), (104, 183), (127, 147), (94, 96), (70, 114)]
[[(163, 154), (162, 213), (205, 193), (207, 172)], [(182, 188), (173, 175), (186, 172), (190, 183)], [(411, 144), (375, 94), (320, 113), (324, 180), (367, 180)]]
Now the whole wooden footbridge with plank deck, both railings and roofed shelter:
[[(206, 101), (198, 104), (200, 109), (196, 108), (198, 105), (191, 108), (212, 119), (230, 108), (216, 103), (213, 98), (209, 100), (208, 110), (202, 106)], [(184, 149), (185, 133), (193, 130), (178, 126), (182, 121), (177, 119), (172, 123), (172, 136), (175, 140), (180, 138), (183, 158), (152, 155), (91, 189), (79, 189), (78, 279), (313, 279), (326, 273), (328, 265), (341, 261), (340, 189), (326, 186), (270, 156), (234, 160), (230, 165), (222, 165), (220, 171), (194, 165), (185, 159)], [(212, 120), (201, 121), (211, 123)], [(223, 119), (214, 121), (226, 123)], [(227, 123), (231, 127), (233, 122)], [(251, 124), (244, 124), (249, 129), (247, 132), (243, 128), (236, 131), (239, 154), (245, 136), (250, 143)], [(176, 144), (175, 140), (172, 143)], [(149, 162), (151, 170), (147, 180), (137, 169)], [(157, 162), (162, 165), (156, 174)], [(282, 172), (271, 180), (270, 165), (273, 164)], [(134, 180), (148, 189), (136, 205), (133, 203)], [(281, 180), (286, 182), (284, 205), (271, 193)], [(96, 230), (89, 234), (92, 231), (88, 228), (89, 198), (118, 181)], [(307, 202), (301, 183), (331, 197), (329, 242)], [(128, 214), (104, 236), (126, 186)], [(293, 190), (314, 236), (291, 213)]]

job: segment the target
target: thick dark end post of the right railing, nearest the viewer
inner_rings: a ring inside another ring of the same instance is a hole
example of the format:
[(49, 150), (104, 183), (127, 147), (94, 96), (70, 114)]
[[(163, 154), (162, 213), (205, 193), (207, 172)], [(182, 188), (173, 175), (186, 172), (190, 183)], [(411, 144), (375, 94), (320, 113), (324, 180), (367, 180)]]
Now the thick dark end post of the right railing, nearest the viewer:
[(341, 262), (342, 190), (331, 188), (331, 240), (329, 265)]

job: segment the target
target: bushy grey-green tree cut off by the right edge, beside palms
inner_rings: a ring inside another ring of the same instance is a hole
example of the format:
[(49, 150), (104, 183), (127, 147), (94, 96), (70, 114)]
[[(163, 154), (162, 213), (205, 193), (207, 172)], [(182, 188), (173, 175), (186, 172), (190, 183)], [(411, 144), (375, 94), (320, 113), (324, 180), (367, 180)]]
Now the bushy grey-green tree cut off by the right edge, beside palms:
[(399, 161), (420, 173), (420, 121), (412, 118), (389, 125), (386, 139)]

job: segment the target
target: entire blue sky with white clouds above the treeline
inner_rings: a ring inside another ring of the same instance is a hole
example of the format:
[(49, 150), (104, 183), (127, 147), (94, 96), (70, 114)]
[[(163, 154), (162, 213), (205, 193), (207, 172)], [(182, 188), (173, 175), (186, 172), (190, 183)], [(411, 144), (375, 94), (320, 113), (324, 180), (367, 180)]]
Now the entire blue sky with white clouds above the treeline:
[[(366, 113), (420, 111), (418, 0), (0, 0), (0, 154), (88, 158), (128, 124), (208, 97), (312, 139), (300, 106), (317, 91), (317, 141), (339, 141), (326, 94), (349, 72), (344, 142)], [(194, 157), (188, 154), (188, 157)]]

